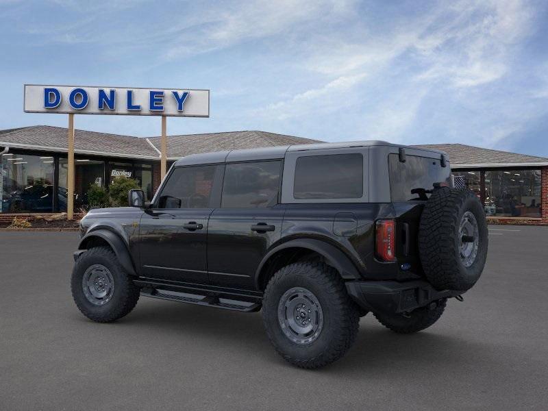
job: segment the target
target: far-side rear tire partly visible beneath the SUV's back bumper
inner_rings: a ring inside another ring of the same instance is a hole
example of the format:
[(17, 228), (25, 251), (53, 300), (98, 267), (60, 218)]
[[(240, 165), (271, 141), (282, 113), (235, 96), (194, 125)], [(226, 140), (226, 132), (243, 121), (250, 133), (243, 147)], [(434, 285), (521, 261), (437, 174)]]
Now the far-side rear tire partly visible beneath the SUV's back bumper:
[(386, 328), (398, 334), (412, 334), (433, 325), (445, 310), (447, 299), (430, 303), (429, 306), (417, 308), (408, 314), (374, 313), (375, 318)]

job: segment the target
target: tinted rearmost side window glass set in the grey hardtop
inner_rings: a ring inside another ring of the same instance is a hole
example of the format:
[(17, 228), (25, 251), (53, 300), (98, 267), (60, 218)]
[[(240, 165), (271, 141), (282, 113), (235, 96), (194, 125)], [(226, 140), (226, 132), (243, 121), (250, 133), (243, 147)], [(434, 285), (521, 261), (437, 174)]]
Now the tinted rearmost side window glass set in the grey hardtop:
[(295, 199), (359, 199), (364, 194), (362, 154), (310, 155), (297, 158)]

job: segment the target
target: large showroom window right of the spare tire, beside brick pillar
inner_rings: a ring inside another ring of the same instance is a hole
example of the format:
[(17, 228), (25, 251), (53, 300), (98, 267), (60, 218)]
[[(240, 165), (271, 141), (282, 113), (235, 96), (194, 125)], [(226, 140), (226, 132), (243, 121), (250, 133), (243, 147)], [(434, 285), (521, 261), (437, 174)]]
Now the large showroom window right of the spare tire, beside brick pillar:
[(488, 215), (540, 219), (540, 170), (486, 171), (485, 205)]

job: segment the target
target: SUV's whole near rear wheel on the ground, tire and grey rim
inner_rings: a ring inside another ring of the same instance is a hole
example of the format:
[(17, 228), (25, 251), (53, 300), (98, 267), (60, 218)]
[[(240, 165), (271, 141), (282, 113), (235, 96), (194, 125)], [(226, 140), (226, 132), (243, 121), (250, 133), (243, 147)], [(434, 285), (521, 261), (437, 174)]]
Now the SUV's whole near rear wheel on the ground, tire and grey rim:
[(336, 270), (320, 261), (277, 271), (266, 286), (262, 314), (279, 355), (305, 369), (338, 360), (358, 334), (356, 305)]

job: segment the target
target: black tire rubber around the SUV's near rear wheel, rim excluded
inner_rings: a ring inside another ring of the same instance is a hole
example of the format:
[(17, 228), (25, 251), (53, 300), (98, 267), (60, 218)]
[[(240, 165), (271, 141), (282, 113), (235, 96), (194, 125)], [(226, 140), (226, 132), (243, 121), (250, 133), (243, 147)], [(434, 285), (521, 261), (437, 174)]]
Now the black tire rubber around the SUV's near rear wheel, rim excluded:
[[(303, 287), (317, 298), (323, 327), (311, 343), (295, 343), (282, 331), (278, 308), (284, 294)], [(349, 350), (359, 327), (358, 307), (349, 298), (337, 271), (327, 264), (302, 261), (284, 266), (264, 292), (262, 316), (266, 334), (282, 358), (303, 369), (316, 369), (338, 360)]]

